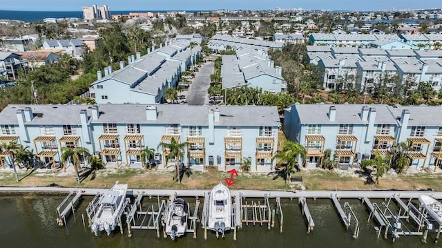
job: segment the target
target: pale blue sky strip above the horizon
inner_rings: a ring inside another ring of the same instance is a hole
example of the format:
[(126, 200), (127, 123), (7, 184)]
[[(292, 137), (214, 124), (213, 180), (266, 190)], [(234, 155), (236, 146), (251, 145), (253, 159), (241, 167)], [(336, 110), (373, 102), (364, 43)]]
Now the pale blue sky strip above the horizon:
[[(392, 10), (442, 8), (441, 0), (0, 0), (0, 10), (81, 10), (107, 4), (115, 10), (267, 10), (304, 8), (321, 10)], [(1, 18), (1, 17), (0, 17)]]

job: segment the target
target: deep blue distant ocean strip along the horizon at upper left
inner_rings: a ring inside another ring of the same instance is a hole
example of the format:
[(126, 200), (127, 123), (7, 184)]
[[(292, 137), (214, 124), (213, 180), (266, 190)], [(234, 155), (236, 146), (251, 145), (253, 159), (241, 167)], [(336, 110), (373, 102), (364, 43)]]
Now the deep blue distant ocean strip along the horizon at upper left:
[[(130, 11), (111, 11), (111, 15), (129, 14), (130, 12), (168, 12), (173, 10), (130, 10)], [(186, 12), (200, 12), (205, 10), (186, 10)], [(83, 18), (82, 11), (14, 11), (14, 10), (0, 10), (0, 20), (19, 20), (27, 22), (42, 21), (45, 18)]]

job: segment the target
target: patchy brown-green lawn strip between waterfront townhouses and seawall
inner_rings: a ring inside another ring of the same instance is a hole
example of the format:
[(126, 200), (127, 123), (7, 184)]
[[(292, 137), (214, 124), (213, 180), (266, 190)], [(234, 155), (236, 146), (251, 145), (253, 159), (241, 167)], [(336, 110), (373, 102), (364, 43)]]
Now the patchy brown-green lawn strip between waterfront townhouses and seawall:
[[(294, 173), (302, 177), (307, 190), (422, 190), (442, 191), (442, 174), (412, 173), (403, 175), (387, 174), (380, 178), (379, 184), (366, 184), (366, 178), (357, 171), (311, 170)], [(194, 171), (188, 177), (184, 175), (182, 183), (173, 182), (173, 171), (149, 169), (103, 169), (95, 175), (87, 175), (77, 183), (73, 171), (20, 171), (18, 183), (10, 170), (0, 171), (0, 185), (9, 187), (41, 187), (57, 184), (63, 187), (109, 188), (115, 181), (129, 184), (133, 189), (211, 189), (215, 184), (230, 178), (230, 174), (215, 168), (204, 172)], [(255, 190), (291, 190), (282, 178), (273, 178), (265, 174), (238, 172), (236, 183), (231, 189)]]

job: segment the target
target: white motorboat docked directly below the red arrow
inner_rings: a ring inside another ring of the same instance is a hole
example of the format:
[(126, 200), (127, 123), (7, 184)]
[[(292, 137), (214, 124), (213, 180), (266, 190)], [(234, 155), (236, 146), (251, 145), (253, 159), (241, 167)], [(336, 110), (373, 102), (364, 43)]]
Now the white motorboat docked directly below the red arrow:
[(232, 198), (230, 190), (223, 184), (216, 185), (209, 195), (209, 216), (208, 228), (216, 232), (218, 238), (219, 233), (232, 228)]

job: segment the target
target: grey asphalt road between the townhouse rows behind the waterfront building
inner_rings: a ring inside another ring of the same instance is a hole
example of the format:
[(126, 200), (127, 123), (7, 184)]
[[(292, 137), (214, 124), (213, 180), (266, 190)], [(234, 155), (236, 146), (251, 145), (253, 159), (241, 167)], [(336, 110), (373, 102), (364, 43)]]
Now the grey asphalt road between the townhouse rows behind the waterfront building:
[(195, 75), (187, 91), (187, 104), (204, 105), (209, 102), (207, 89), (210, 86), (210, 75), (213, 73), (213, 62), (204, 64)]

